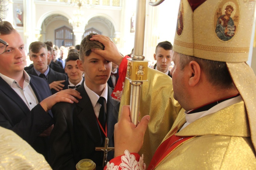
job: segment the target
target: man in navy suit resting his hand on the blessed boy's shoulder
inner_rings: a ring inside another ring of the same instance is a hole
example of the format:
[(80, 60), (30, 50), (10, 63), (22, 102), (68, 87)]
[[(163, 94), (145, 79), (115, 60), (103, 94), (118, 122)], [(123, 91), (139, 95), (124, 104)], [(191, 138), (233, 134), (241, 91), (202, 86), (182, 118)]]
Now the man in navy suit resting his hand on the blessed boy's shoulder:
[(79, 93), (69, 89), (52, 95), (45, 80), (24, 71), (24, 42), (10, 22), (0, 21), (0, 39), (0, 126), (15, 132), (47, 160), (47, 136), (54, 123), (50, 109), (57, 102), (77, 102), (71, 95), (79, 97)]

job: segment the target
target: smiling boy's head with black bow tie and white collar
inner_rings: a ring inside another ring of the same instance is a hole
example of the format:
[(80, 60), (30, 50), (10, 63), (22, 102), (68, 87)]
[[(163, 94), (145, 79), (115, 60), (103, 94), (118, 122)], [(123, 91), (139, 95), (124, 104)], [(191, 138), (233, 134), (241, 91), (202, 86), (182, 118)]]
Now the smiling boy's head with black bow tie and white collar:
[(63, 89), (77, 89), (84, 81), (84, 72), (78, 68), (76, 60), (79, 60), (79, 53), (69, 52), (65, 62), (65, 72), (68, 75), (68, 80), (64, 82)]

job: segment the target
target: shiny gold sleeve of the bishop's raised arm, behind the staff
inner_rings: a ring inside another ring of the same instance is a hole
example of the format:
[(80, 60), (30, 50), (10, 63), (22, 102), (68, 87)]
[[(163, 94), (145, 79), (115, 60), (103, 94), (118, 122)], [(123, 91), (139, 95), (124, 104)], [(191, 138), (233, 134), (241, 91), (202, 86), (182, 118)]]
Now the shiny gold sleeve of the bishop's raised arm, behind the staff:
[[(184, 114), (179, 103), (173, 98), (172, 79), (168, 75), (153, 68), (148, 68), (147, 82), (141, 86), (140, 119), (150, 115), (151, 119), (144, 136), (140, 154), (144, 154), (144, 163), (148, 165), (157, 147), (171, 129), (179, 113)], [(121, 98), (119, 113), (122, 106), (130, 104), (130, 84), (126, 79)]]

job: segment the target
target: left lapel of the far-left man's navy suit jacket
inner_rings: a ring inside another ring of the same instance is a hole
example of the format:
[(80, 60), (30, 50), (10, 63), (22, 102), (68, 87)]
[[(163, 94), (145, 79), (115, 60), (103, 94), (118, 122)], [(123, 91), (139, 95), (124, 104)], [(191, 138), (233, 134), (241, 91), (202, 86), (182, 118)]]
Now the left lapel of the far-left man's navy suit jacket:
[(6, 83), (1, 77), (0, 77), (0, 89), (1, 91), (6, 95), (9, 96), (9, 98), (12, 99), (13, 103), (16, 103), (22, 109), (22, 111), (27, 114), (30, 110), (28, 106), (24, 103), (22, 98), (19, 97), (19, 95), (9, 86), (8, 83)]

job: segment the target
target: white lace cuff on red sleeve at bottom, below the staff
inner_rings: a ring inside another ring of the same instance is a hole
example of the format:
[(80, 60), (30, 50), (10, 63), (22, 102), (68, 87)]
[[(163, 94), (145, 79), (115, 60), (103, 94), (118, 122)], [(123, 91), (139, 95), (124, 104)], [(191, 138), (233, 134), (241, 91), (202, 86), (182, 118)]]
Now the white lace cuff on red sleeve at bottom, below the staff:
[(122, 163), (120, 165), (114, 165), (114, 163), (109, 163), (106, 165), (106, 170), (145, 170), (146, 164), (143, 163), (143, 155), (140, 160), (137, 161), (133, 154), (130, 154), (128, 150), (125, 151), (125, 155), (121, 157)]

